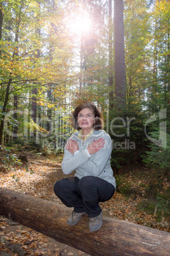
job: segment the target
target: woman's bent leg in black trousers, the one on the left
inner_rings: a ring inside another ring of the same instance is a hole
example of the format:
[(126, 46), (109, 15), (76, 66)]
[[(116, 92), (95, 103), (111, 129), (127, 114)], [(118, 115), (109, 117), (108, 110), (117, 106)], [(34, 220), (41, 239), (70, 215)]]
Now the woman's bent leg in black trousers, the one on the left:
[(74, 207), (76, 213), (82, 213), (86, 211), (86, 207), (79, 194), (78, 183), (79, 178), (77, 177), (63, 178), (62, 180), (56, 181), (54, 192), (65, 206)]

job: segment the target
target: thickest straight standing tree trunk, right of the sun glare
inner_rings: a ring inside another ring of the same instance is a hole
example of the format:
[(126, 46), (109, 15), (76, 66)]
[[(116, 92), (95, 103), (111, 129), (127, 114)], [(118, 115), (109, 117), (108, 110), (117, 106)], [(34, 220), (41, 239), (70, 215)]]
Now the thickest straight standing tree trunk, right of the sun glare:
[(114, 0), (115, 101), (118, 110), (126, 108), (123, 0)]

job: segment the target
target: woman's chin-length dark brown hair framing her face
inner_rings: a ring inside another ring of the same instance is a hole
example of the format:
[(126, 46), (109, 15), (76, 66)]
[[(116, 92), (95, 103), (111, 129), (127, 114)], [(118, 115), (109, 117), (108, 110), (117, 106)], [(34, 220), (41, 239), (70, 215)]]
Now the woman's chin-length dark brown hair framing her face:
[(101, 130), (103, 128), (102, 114), (101, 114), (100, 110), (98, 110), (98, 108), (96, 108), (95, 104), (89, 103), (89, 102), (79, 104), (75, 108), (75, 110), (72, 112), (72, 126), (74, 127), (74, 129), (76, 129), (76, 130), (81, 129), (77, 122), (77, 116), (78, 116), (78, 113), (81, 110), (83, 110), (84, 108), (89, 108), (89, 110), (93, 111), (93, 113), (95, 115), (95, 122), (93, 124), (93, 129), (95, 129), (96, 131)]

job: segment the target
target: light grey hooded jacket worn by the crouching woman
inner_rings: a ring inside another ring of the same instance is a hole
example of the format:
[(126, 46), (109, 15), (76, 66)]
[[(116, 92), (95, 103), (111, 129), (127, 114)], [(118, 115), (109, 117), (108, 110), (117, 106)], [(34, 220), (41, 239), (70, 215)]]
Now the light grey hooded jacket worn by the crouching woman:
[[(79, 150), (74, 154), (65, 148), (62, 170), (70, 174), (75, 170), (75, 176), (81, 179), (84, 176), (95, 176), (115, 185), (115, 178), (110, 166), (110, 155), (112, 153), (112, 141), (107, 132), (103, 130), (93, 131), (84, 142), (78, 137), (79, 132), (74, 132), (70, 137), (79, 145)], [(87, 147), (95, 139), (105, 139), (105, 144), (98, 152), (89, 154)]]

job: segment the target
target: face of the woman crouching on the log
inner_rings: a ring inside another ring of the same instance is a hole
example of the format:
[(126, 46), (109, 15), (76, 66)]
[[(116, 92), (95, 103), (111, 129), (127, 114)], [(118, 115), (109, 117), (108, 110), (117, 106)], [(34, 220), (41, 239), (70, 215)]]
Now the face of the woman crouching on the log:
[(95, 121), (95, 115), (89, 108), (84, 108), (83, 110), (79, 111), (77, 121), (82, 130), (91, 131)]

